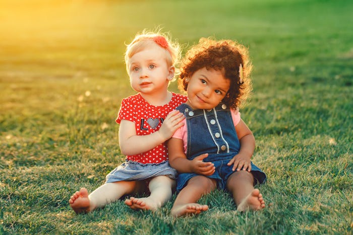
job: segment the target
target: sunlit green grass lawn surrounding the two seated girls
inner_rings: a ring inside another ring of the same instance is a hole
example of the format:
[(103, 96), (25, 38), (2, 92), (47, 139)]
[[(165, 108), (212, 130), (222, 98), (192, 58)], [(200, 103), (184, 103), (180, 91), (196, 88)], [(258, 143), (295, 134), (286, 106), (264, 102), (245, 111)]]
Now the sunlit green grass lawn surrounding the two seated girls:
[[(351, 234), (352, 11), (343, 0), (2, 1), (0, 234)], [(170, 216), (175, 195), (156, 213), (123, 201), (71, 210), (76, 190), (125, 158), (114, 123), (134, 94), (124, 43), (159, 25), (184, 52), (208, 36), (249, 47), (254, 92), (241, 112), (266, 209), (237, 213), (217, 191), (187, 218)]]

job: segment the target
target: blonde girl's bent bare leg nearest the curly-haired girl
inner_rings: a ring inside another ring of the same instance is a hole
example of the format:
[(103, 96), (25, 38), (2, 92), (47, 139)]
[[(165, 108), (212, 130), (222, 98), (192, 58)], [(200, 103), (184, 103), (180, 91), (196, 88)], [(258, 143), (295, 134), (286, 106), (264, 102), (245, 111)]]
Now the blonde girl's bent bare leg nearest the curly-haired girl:
[(167, 176), (157, 176), (149, 183), (151, 195), (144, 198), (131, 197), (125, 200), (125, 204), (131, 209), (144, 209), (155, 211), (161, 207), (164, 202), (169, 200), (172, 195), (172, 188), (175, 187), (175, 181)]

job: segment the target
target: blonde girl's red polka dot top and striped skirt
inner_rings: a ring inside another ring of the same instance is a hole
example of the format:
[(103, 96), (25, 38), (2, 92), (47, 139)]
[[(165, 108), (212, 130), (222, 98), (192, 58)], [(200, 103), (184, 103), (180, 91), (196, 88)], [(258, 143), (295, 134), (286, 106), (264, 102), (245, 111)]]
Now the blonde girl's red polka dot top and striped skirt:
[[(137, 135), (148, 135), (158, 131), (163, 120), (169, 112), (180, 104), (185, 103), (187, 97), (172, 93), (169, 103), (162, 106), (150, 105), (140, 94), (123, 99), (121, 108), (116, 118), (135, 123)], [(167, 175), (175, 179), (177, 172), (169, 166), (168, 151), (164, 143), (135, 155), (127, 155), (126, 162), (110, 172), (107, 182), (121, 180), (143, 180), (158, 175)]]

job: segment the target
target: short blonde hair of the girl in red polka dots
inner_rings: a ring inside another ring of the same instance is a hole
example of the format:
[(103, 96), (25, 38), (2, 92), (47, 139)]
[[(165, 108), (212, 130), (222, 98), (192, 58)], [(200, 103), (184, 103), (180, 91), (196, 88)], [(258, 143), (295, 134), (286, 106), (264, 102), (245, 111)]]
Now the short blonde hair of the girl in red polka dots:
[[(163, 37), (164, 42), (167, 45), (162, 45), (155, 40), (156, 38)], [(179, 63), (181, 59), (181, 50), (180, 45), (177, 41), (172, 41), (169, 33), (161, 33), (160, 30), (149, 31), (143, 30), (141, 33), (138, 33), (134, 40), (126, 46), (125, 52), (125, 64), (126, 70), (129, 73), (129, 59), (134, 56), (136, 53), (146, 49), (152, 43), (156, 43), (161, 48), (165, 49), (165, 56), (169, 66), (174, 66), (175, 72), (174, 77), (179, 75)]]

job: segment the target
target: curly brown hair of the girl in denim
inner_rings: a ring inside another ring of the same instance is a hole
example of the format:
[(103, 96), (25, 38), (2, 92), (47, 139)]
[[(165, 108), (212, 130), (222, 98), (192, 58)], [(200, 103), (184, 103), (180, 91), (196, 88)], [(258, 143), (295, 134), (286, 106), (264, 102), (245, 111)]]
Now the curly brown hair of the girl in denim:
[[(239, 66), (243, 66), (243, 82), (240, 82)], [(227, 106), (236, 109), (245, 101), (252, 90), (250, 73), (252, 63), (249, 59), (248, 49), (232, 40), (213, 40), (201, 38), (199, 43), (192, 46), (185, 54), (181, 63), (178, 86), (186, 91), (188, 83), (186, 77), (191, 77), (197, 70), (222, 70), (225, 79), (230, 80), (228, 94), (223, 101)]]

